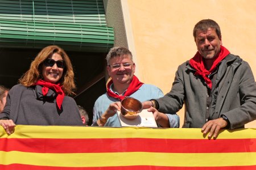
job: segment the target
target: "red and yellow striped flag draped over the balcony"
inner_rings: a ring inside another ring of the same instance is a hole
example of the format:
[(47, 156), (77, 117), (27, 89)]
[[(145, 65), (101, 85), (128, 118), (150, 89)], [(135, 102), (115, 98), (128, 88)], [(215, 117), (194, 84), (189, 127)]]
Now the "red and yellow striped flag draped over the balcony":
[(256, 169), (256, 129), (0, 127), (0, 169)]

